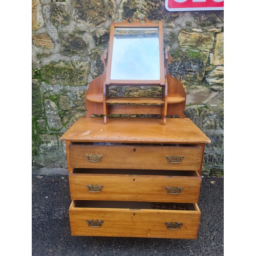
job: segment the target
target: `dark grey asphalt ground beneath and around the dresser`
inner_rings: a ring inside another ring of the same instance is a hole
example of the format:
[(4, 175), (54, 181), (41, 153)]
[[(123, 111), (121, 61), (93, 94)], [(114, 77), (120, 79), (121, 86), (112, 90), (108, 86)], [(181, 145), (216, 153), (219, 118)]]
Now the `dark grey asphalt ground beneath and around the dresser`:
[(68, 176), (32, 176), (32, 255), (224, 255), (224, 178), (202, 178), (198, 239), (75, 237)]

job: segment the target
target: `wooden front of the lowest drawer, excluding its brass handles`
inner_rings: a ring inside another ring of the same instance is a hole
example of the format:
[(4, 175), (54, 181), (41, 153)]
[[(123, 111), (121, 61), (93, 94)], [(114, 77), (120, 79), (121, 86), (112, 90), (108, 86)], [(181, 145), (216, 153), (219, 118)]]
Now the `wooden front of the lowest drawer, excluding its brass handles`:
[[(145, 202), (143, 202), (143, 205)], [(142, 204), (142, 203), (141, 203)], [(98, 203), (100, 205), (100, 203)], [(192, 210), (151, 209), (148, 203), (140, 208), (76, 207), (69, 208), (71, 234), (73, 236), (150, 237), (196, 239), (201, 218), (197, 204)], [(90, 205), (89, 205), (90, 206)], [(101, 227), (89, 227), (87, 220), (102, 220)], [(165, 222), (182, 223), (179, 230), (167, 229)]]

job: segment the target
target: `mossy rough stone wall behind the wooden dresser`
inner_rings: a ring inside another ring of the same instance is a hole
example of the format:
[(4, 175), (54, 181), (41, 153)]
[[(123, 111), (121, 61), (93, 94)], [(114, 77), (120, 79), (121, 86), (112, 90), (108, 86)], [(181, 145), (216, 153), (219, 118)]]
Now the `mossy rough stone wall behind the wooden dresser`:
[[(32, 0), (33, 172), (66, 172), (59, 137), (86, 114), (84, 92), (102, 73), (110, 23), (126, 17), (163, 20), (164, 45), (173, 56), (169, 72), (187, 92), (185, 116), (212, 141), (203, 173), (222, 175), (223, 11), (168, 12), (164, 0)], [(158, 93), (124, 90), (124, 95)]]

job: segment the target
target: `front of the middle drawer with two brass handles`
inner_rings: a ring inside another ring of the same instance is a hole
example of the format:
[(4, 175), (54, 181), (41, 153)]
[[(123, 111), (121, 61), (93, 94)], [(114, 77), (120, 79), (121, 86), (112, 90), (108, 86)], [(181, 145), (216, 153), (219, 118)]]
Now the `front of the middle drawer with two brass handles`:
[(197, 203), (201, 177), (195, 173), (196, 177), (70, 174), (71, 199)]

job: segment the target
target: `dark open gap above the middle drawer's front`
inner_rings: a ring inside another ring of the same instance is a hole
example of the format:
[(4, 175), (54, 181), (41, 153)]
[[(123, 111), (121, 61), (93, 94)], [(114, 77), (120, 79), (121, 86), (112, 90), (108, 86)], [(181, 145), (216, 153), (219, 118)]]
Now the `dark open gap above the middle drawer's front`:
[(149, 169), (93, 169), (74, 168), (73, 174), (121, 174), (121, 175), (154, 175), (154, 176), (182, 176), (199, 177), (195, 170), (149, 170)]

